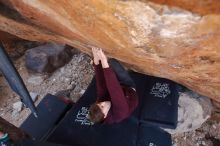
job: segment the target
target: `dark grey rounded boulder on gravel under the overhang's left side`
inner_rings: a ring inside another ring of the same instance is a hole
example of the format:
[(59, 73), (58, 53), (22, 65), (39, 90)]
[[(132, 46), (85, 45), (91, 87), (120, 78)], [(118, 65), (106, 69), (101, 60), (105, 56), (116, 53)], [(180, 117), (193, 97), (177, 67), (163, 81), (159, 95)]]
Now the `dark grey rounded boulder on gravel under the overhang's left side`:
[(71, 58), (69, 47), (54, 43), (29, 49), (25, 53), (27, 69), (37, 73), (51, 73), (68, 63)]

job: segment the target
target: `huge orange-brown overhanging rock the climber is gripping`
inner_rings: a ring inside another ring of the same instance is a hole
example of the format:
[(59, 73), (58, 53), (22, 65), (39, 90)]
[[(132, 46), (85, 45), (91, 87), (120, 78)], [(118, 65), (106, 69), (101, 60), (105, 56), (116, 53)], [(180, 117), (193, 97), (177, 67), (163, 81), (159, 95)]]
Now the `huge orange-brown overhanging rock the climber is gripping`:
[(92, 46), (101, 47), (130, 69), (174, 80), (220, 102), (218, 0), (0, 2), (1, 31), (69, 44), (88, 54)]

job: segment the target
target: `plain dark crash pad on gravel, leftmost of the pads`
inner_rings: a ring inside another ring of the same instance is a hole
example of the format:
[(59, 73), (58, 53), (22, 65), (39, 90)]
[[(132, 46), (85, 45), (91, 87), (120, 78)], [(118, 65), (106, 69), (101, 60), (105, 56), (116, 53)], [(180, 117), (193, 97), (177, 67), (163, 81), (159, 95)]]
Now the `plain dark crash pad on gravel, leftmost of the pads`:
[(47, 94), (37, 106), (38, 118), (31, 114), (20, 126), (35, 140), (43, 140), (62, 119), (70, 103)]

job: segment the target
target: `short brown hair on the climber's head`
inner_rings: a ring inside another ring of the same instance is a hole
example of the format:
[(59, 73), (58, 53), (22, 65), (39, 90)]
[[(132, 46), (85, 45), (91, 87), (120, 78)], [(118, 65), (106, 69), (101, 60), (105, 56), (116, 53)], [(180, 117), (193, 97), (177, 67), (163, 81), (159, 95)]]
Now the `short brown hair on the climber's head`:
[(103, 114), (97, 102), (93, 103), (89, 108), (89, 120), (94, 123), (99, 123), (104, 120), (105, 115)]

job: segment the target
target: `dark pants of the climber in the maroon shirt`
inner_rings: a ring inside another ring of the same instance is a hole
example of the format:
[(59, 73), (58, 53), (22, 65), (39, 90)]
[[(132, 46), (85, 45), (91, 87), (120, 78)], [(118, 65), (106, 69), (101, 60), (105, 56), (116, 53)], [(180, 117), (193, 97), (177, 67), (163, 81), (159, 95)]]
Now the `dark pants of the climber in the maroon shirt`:
[(114, 58), (109, 59), (109, 64), (113, 71), (115, 72), (118, 81), (121, 85), (132, 87), (136, 89), (136, 85), (133, 81), (133, 79), (130, 77), (127, 70), (124, 69), (124, 67)]

